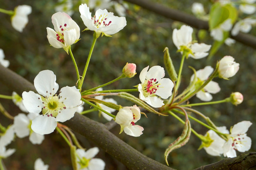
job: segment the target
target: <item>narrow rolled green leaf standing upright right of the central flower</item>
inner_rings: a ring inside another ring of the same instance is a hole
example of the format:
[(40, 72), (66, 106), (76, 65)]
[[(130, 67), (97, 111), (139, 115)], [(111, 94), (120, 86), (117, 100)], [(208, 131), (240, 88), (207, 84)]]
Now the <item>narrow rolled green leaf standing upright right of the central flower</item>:
[(173, 61), (172, 61), (172, 59), (170, 57), (169, 49), (167, 47), (165, 47), (165, 50), (164, 50), (164, 63), (165, 63), (166, 71), (169, 74), (171, 80), (173, 82), (177, 81), (178, 80), (178, 76), (177, 76), (177, 73), (175, 71), (175, 68), (174, 68), (174, 65), (173, 65)]

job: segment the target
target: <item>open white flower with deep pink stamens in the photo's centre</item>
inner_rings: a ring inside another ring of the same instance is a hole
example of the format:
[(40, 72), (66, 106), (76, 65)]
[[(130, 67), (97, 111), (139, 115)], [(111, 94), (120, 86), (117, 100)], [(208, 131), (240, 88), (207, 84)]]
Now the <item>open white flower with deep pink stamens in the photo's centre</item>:
[(147, 104), (158, 108), (163, 106), (164, 102), (157, 96), (163, 99), (170, 97), (174, 83), (169, 78), (163, 78), (165, 76), (164, 68), (153, 66), (148, 70), (148, 67), (143, 68), (139, 75), (141, 81), (141, 84), (138, 85), (139, 98)]

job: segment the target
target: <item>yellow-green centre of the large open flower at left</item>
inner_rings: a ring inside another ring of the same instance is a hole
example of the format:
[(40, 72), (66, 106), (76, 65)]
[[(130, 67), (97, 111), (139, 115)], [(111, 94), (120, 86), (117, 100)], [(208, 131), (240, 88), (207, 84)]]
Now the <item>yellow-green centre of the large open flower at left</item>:
[(56, 117), (61, 110), (66, 109), (63, 102), (59, 101), (58, 96), (42, 97), (44, 104), (43, 115)]

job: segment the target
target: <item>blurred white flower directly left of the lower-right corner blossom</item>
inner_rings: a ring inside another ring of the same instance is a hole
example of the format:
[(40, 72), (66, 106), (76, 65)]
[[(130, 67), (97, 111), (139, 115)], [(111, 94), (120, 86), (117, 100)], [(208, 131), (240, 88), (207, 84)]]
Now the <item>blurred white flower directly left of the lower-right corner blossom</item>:
[[(227, 130), (227, 127), (217, 127), (219, 132), (224, 134), (229, 134), (229, 131)], [(206, 153), (212, 155), (212, 156), (220, 156), (220, 154), (223, 154), (223, 145), (225, 144), (225, 140), (222, 139), (216, 132), (213, 130), (209, 130), (205, 136), (209, 136), (211, 140), (213, 140), (210, 143), (210, 146), (203, 147)]]

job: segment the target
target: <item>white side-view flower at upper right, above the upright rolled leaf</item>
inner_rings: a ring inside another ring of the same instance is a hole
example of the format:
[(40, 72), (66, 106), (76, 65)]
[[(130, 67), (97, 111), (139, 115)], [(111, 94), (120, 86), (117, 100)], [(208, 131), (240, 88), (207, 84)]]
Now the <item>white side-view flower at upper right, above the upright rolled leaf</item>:
[(179, 51), (186, 51), (193, 59), (201, 59), (208, 55), (211, 45), (205, 43), (192, 42), (193, 28), (190, 26), (181, 26), (179, 30), (176, 28), (173, 31), (173, 42)]

